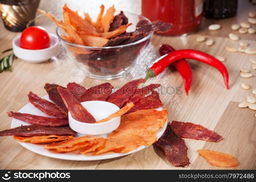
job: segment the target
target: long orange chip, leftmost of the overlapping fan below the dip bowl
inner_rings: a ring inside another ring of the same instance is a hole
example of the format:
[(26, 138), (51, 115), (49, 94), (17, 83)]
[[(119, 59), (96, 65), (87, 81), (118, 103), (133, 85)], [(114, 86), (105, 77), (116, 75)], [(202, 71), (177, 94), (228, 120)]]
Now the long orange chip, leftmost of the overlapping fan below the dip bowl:
[(63, 141), (63, 142), (58, 142), (58, 143), (52, 143), (50, 145), (46, 145), (45, 149), (57, 149), (57, 148), (63, 148), (63, 147), (72, 147), (78, 143), (82, 143), (82, 142), (88, 142), (88, 141), (92, 141), (94, 139), (97, 139), (97, 137), (78, 137), (78, 138), (73, 138), (70, 139), (68, 141)]

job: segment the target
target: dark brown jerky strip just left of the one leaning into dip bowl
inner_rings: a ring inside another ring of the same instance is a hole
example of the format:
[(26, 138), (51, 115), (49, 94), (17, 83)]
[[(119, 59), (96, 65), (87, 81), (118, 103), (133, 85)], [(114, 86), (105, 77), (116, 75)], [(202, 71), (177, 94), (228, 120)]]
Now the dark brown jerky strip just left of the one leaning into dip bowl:
[(49, 95), (49, 99), (57, 105), (57, 107), (64, 113), (68, 114), (67, 107), (65, 106), (57, 88), (65, 88), (55, 83), (46, 83), (44, 89)]

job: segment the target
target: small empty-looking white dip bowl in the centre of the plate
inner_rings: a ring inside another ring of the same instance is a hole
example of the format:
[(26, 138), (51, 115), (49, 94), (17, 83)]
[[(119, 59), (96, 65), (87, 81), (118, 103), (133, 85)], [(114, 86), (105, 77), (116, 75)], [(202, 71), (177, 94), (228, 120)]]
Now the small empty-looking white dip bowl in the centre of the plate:
[[(119, 110), (115, 104), (105, 101), (86, 101), (81, 102), (84, 108), (94, 116), (96, 121), (108, 117), (110, 114)], [(120, 125), (121, 116), (113, 118), (103, 123), (83, 123), (75, 120), (71, 113), (68, 112), (68, 122), (72, 130), (84, 135), (103, 135), (116, 130)]]

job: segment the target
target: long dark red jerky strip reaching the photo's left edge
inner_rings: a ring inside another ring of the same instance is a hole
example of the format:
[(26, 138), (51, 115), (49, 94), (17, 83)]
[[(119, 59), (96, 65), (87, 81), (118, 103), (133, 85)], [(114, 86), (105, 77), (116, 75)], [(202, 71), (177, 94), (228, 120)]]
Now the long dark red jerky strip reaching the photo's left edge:
[(42, 126), (42, 125), (27, 125), (11, 128), (9, 130), (0, 131), (0, 136), (41, 136), (41, 135), (75, 135), (76, 132), (69, 126)]

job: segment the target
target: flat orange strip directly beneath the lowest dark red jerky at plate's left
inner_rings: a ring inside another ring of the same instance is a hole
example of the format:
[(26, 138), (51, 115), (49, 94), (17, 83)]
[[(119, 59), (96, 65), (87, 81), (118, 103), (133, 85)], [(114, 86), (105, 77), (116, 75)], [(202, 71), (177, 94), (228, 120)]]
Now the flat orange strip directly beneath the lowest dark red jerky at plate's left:
[(30, 143), (46, 143), (46, 142), (57, 142), (64, 141), (74, 138), (72, 135), (43, 135), (43, 136), (32, 136), (32, 137), (20, 137), (14, 136), (14, 139), (19, 142), (30, 141)]

